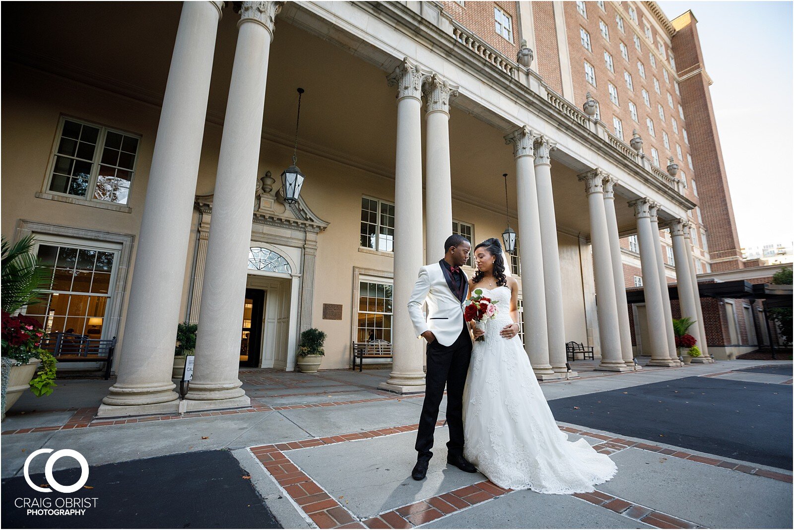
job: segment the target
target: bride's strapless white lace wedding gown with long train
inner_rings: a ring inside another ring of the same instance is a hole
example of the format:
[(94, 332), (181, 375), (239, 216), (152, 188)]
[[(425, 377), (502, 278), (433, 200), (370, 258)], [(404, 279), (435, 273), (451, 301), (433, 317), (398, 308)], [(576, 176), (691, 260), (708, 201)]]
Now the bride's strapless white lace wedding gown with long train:
[[(586, 440), (569, 442), (546, 403), (518, 336), (499, 331), (511, 323), (511, 290), (490, 292), (499, 300), (485, 321), (485, 340), (474, 343), (463, 396), (464, 456), (497, 486), (542, 494), (594, 490), (618, 468)], [(559, 340), (559, 338), (558, 338)]]

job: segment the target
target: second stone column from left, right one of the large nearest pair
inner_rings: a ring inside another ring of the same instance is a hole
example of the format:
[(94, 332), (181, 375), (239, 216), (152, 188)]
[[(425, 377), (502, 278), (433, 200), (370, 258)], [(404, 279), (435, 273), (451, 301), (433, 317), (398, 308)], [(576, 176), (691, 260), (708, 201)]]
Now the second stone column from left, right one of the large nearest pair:
[(250, 405), (237, 378), (264, 90), (283, 2), (242, 2), (218, 156), (193, 380), (185, 409)]

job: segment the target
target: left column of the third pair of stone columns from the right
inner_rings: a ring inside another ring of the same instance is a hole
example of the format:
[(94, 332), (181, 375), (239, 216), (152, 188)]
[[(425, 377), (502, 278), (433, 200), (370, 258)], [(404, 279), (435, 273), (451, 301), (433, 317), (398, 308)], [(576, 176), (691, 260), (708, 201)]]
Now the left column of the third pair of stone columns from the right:
[(595, 273), (595, 312), (598, 315), (598, 331), (601, 343), (601, 363), (595, 370), (631, 371), (623, 361), (618, 320), (618, 302), (615, 299), (615, 276), (612, 269), (607, 212), (603, 202), (603, 180), (609, 175), (594, 169), (579, 175), (585, 183), (590, 211), (590, 241), (593, 251)]

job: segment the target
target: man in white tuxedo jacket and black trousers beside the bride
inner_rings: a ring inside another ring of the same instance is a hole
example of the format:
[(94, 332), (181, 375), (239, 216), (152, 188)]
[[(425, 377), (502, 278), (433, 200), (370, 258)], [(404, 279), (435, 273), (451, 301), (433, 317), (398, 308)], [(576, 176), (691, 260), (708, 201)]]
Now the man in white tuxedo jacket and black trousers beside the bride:
[[(438, 406), (447, 387), (446, 418), (449, 424), (447, 463), (468, 473), (475, 467), (463, 458), (463, 387), (472, 356), (472, 338), (463, 319), (463, 302), (468, 294), (468, 278), (461, 265), (468, 261), (472, 245), (464, 236), (449, 236), (445, 255), (438, 263), (419, 269), (419, 278), (408, 301), (408, 313), (417, 335), (427, 341), (425, 402), (416, 435), (419, 455), (411, 472), (422, 480), (433, 452), (433, 434), (438, 420)], [(422, 305), (427, 301), (425, 320)]]

